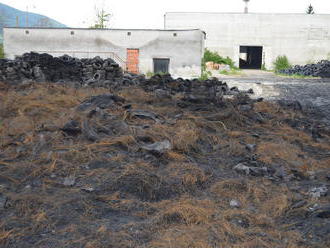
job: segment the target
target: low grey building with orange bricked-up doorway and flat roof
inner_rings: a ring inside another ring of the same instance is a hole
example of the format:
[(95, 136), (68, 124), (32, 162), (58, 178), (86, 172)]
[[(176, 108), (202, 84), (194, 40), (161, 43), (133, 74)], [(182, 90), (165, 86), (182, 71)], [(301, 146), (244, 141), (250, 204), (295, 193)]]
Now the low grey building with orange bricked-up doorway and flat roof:
[(199, 77), (205, 33), (187, 30), (4, 28), (8, 58), (26, 52), (113, 58), (134, 73), (169, 72)]

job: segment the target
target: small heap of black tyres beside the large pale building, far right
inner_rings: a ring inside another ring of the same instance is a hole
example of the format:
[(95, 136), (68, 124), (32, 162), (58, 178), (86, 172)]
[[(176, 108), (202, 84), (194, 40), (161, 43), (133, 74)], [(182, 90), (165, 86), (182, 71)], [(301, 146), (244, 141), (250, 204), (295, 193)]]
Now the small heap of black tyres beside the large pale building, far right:
[(330, 61), (322, 60), (317, 64), (295, 65), (292, 68), (281, 70), (286, 75), (302, 75), (312, 77), (330, 78)]

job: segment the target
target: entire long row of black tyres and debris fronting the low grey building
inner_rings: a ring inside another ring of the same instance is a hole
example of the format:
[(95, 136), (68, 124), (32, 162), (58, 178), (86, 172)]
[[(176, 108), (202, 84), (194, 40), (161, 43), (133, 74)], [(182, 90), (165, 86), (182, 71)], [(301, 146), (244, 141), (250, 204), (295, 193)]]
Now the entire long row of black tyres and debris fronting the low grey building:
[[(77, 59), (68, 55), (53, 57), (49, 54), (25, 53), (15, 60), (0, 60), (0, 81), (11, 85), (28, 82), (50, 82), (75, 87), (105, 87), (116, 89), (125, 86), (141, 86), (147, 91), (166, 96), (178, 92), (187, 94), (200, 92), (206, 98), (220, 99), (223, 95), (236, 95), (239, 90), (229, 89), (226, 83), (213, 78), (173, 79), (171, 75), (155, 75), (146, 79), (144, 75), (123, 73), (112, 59)], [(252, 89), (246, 93), (253, 93)], [(187, 96), (187, 97), (192, 97)], [(193, 101), (193, 99), (190, 99)]]

